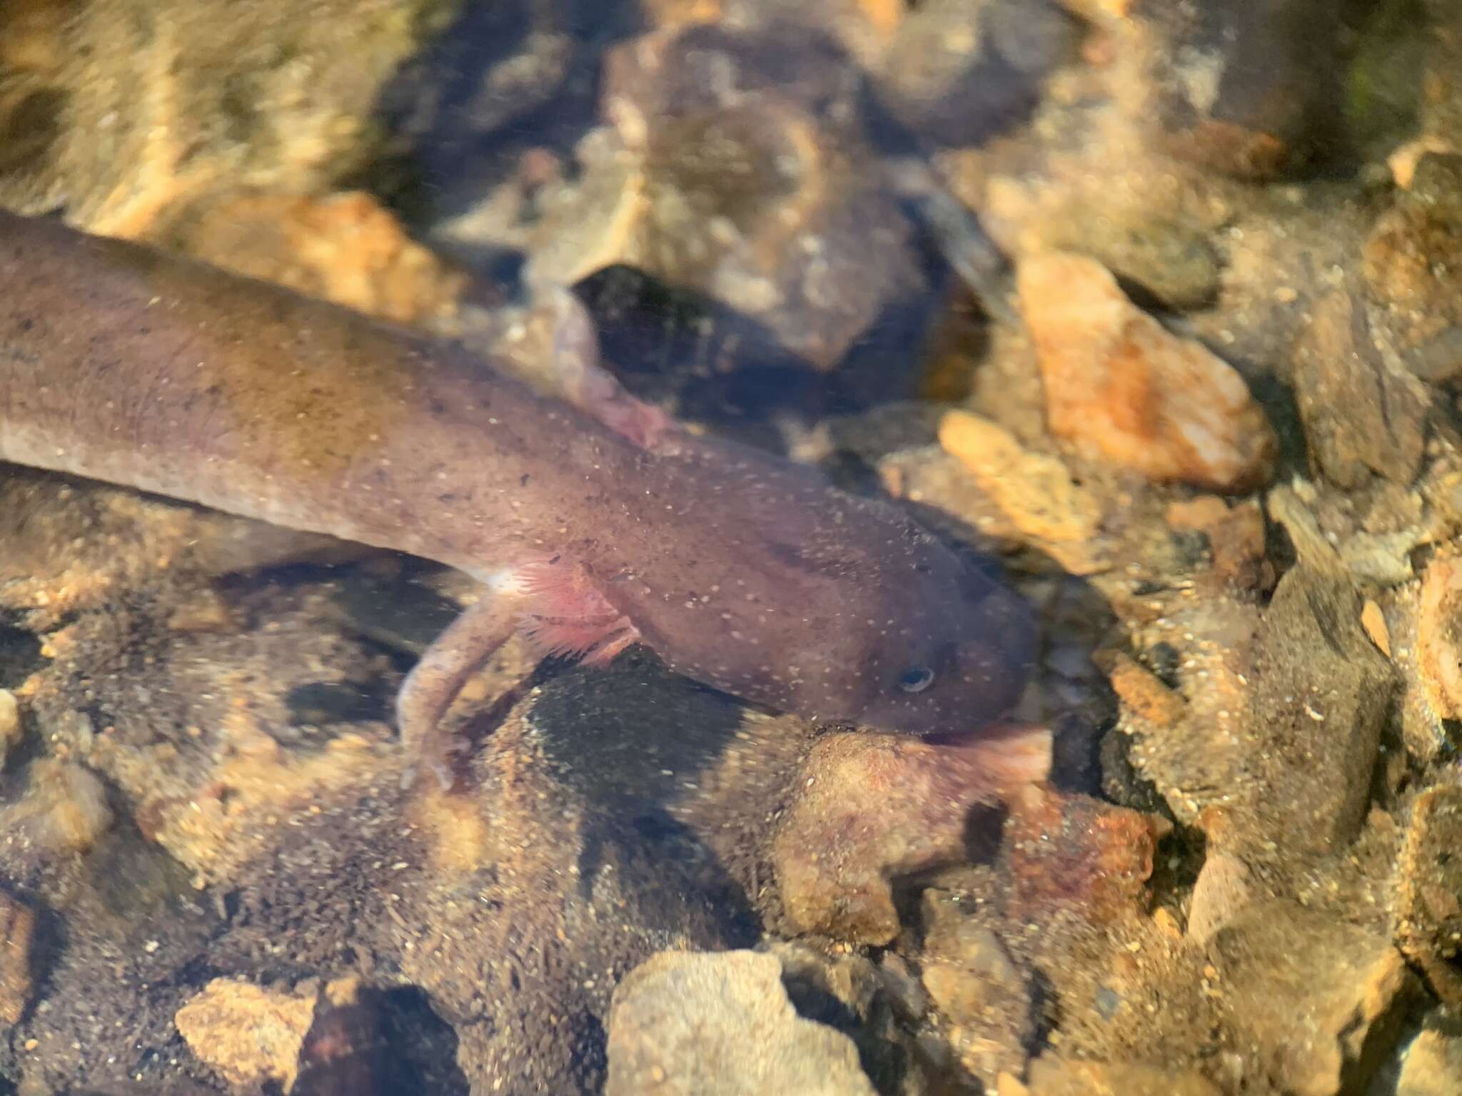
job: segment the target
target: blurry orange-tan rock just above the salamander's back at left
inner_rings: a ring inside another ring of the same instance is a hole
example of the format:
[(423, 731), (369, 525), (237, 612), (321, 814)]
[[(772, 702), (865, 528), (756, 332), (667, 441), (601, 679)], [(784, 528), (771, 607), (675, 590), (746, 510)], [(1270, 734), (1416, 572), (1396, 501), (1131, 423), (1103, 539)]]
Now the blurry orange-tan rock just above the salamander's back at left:
[(412, 241), (370, 194), (240, 194), (199, 203), (155, 232), (225, 270), (398, 323), (450, 317), (466, 276)]

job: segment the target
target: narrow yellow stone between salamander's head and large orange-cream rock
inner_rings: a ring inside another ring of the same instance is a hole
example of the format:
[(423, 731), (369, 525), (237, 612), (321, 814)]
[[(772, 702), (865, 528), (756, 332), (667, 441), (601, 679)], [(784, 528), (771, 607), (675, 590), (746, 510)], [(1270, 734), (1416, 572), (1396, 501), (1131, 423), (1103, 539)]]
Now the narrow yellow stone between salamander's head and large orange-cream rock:
[(939, 443), (1020, 532), (1042, 541), (1086, 541), (1096, 532), (1096, 497), (1057, 457), (1028, 452), (990, 419), (950, 411), (939, 424)]

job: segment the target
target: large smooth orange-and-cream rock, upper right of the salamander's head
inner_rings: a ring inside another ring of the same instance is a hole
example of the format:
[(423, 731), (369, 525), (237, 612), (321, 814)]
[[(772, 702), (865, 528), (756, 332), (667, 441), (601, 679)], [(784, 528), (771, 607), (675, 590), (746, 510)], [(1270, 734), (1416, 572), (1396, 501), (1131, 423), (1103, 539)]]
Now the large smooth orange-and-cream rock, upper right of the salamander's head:
[(1020, 263), (1051, 433), (1155, 481), (1238, 492), (1272, 473), (1276, 441), (1243, 377), (1136, 308), (1094, 259)]

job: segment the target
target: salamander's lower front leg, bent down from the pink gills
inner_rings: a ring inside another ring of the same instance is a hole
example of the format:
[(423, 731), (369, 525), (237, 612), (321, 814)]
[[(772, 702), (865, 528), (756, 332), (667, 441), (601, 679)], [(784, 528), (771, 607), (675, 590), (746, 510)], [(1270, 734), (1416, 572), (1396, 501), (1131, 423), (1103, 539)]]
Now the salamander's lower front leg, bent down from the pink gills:
[(452, 742), (442, 718), (466, 680), (518, 630), (522, 614), (522, 598), (513, 592), (484, 589), (427, 647), (396, 694), (401, 739), (431, 766), (443, 788), (452, 786)]

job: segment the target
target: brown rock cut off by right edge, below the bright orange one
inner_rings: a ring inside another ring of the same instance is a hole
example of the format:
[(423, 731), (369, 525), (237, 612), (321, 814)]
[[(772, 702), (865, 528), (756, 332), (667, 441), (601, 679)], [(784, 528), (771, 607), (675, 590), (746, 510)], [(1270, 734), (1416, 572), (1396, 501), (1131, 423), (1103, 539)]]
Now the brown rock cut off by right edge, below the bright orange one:
[(1428, 788), (1411, 807), (1396, 858), (1396, 945), (1433, 992), (1462, 1005), (1456, 959), (1462, 941), (1462, 791)]

